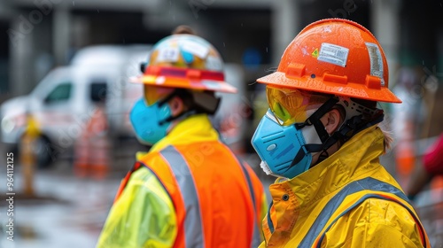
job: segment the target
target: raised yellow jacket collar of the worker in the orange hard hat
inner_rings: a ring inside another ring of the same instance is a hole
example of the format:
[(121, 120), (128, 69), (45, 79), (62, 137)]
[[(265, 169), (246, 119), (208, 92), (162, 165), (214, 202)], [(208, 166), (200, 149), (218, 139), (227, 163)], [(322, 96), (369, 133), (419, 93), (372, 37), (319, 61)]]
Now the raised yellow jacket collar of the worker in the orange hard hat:
[(328, 159), (305, 173), (284, 182), (277, 179), (269, 190), (276, 197), (281, 195), (281, 190), (291, 190), (297, 198), (297, 208), (303, 211), (306, 205), (313, 205), (359, 175), (367, 173), (371, 167), (376, 167), (378, 157), (384, 152), (384, 135), (376, 125), (362, 130)]

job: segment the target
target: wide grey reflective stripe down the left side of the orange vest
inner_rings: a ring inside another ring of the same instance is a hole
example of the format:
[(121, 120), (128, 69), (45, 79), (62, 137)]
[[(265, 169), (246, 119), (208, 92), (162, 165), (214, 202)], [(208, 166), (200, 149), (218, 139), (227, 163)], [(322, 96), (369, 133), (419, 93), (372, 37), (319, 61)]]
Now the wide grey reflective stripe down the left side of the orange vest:
[(175, 174), (175, 180), (182, 192), (186, 215), (184, 219), (184, 235), (186, 247), (205, 247), (203, 222), (201, 218), (198, 193), (190, 168), (182, 154), (173, 146), (159, 152), (167, 160)]

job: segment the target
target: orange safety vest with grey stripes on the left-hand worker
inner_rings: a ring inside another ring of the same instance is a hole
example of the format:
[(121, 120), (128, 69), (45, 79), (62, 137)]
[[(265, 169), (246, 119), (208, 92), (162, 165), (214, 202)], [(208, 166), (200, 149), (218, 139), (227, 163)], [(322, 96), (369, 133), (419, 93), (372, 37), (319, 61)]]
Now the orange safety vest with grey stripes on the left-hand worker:
[(148, 168), (175, 206), (174, 247), (257, 247), (263, 188), (251, 167), (219, 141), (169, 145), (137, 161)]

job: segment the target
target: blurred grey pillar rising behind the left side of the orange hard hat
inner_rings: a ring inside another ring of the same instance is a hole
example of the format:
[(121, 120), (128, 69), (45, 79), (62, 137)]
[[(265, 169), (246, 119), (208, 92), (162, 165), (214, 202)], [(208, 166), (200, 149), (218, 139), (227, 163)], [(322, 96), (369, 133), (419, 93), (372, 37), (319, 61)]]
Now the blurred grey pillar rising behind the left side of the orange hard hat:
[(299, 0), (273, 1), (271, 21), (271, 64), (278, 66), (284, 49), (301, 29)]

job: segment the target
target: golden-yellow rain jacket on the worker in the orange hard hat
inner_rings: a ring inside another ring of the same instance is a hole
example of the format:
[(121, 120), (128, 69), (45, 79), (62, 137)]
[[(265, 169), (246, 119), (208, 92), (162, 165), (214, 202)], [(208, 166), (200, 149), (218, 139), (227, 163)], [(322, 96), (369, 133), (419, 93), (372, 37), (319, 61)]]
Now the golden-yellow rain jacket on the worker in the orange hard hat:
[(373, 126), (307, 172), (269, 187), (260, 247), (431, 247), (416, 212), (380, 165)]

